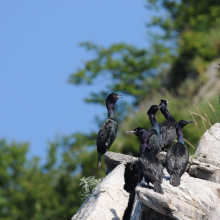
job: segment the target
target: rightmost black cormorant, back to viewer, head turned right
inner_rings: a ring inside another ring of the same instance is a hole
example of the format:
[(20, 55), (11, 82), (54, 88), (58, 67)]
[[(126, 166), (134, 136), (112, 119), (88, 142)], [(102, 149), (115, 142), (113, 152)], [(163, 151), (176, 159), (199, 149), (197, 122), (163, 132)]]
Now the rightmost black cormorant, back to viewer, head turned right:
[(180, 177), (187, 169), (189, 162), (189, 151), (184, 146), (182, 129), (189, 123), (194, 121), (180, 120), (176, 123), (176, 133), (178, 142), (174, 144), (166, 155), (167, 172), (170, 174), (170, 184), (173, 186), (180, 185)]

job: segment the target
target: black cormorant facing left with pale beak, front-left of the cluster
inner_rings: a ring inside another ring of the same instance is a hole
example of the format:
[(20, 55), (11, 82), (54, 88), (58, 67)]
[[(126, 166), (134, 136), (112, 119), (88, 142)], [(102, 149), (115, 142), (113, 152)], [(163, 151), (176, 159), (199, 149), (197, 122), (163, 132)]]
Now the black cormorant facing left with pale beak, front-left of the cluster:
[[(135, 128), (133, 131), (127, 131), (127, 133), (133, 133), (139, 137), (141, 141), (139, 151), (139, 177), (144, 176), (145, 181), (149, 184), (151, 182), (154, 185), (154, 191), (160, 194), (164, 194), (161, 187), (163, 181), (163, 166), (160, 160), (156, 157), (153, 151), (151, 151), (147, 145), (149, 138), (148, 131), (144, 128)], [(139, 178), (138, 178), (139, 181)]]

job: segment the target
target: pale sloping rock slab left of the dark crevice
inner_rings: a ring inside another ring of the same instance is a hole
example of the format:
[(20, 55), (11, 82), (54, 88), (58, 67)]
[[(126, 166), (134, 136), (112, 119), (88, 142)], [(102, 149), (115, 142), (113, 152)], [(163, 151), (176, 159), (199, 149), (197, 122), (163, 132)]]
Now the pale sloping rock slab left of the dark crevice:
[(94, 189), (72, 220), (120, 220), (128, 205), (129, 193), (124, 190), (125, 165), (118, 165)]

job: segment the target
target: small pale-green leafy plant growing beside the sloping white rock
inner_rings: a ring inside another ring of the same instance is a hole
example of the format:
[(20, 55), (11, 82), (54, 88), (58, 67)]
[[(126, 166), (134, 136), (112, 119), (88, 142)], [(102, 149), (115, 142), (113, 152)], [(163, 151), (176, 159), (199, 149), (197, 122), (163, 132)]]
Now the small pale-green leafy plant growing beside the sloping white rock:
[(102, 181), (102, 178), (95, 179), (94, 176), (89, 176), (87, 178), (83, 177), (80, 181), (80, 185), (82, 186), (80, 194), (82, 196), (82, 200), (84, 201), (90, 196), (95, 187)]

